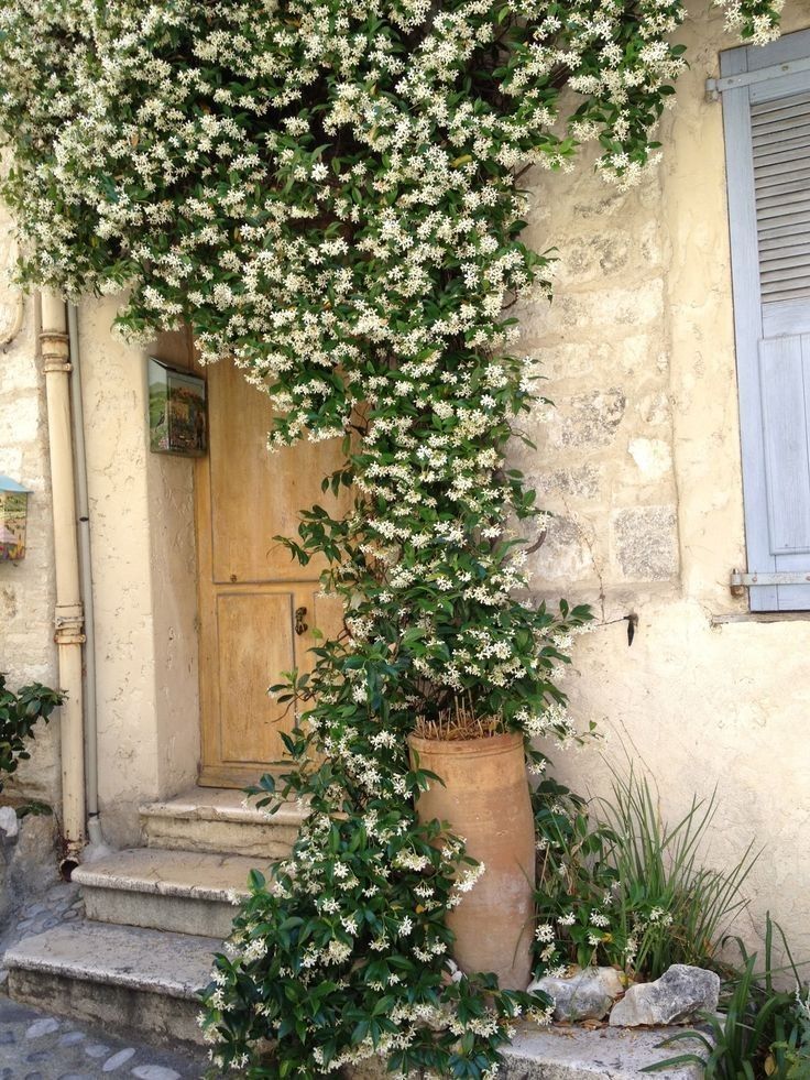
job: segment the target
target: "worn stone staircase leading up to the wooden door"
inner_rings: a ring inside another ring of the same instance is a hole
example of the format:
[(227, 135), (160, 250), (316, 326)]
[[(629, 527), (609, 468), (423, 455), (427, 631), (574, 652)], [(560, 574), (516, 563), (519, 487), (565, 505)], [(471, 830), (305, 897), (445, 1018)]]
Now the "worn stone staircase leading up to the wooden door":
[(198, 991), (251, 869), (289, 851), (304, 810), (272, 818), (238, 790), (196, 787), (141, 808), (146, 843), (81, 865), (86, 920), (6, 953), (9, 995), (158, 1041), (200, 1043)]

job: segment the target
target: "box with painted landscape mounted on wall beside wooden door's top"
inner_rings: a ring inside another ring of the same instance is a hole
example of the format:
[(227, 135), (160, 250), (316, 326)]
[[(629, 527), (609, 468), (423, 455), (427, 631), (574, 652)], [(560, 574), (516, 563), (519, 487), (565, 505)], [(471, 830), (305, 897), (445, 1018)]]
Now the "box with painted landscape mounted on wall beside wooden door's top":
[(208, 448), (205, 380), (150, 357), (149, 435), (154, 454), (204, 455)]

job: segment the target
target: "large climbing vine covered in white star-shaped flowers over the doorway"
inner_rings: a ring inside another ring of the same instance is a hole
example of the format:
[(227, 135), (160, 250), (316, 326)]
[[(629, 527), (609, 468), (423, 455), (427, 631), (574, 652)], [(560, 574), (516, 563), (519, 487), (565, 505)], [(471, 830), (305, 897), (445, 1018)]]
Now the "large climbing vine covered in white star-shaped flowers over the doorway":
[[(744, 36), (775, 32), (778, 0), (724, 2)], [(128, 290), (133, 339), (190, 325), (204, 362), (270, 396), (272, 449), (342, 439), (324, 505), (285, 539), (303, 566), (326, 560), (344, 607), (314, 672), (277, 688), (306, 702), (283, 794), (313, 815), (220, 961), (207, 1029), (223, 1065), (265, 1038), (282, 1076), (381, 1047), (403, 1072), (495, 1061), (515, 1002), (450, 978), (439, 924), (471, 881), (452, 838), (441, 865), (424, 844), (405, 738), (459, 697), (522, 731), (536, 772), (528, 741), (571, 734), (556, 672), (589, 613), (529, 599), (521, 527), (543, 515), (507, 462), (517, 418), (545, 404), (510, 354), (510, 307), (549, 291), (519, 176), (599, 140), (602, 173), (634, 183), (683, 18), (681, 0), (0, 10), (22, 281)]]

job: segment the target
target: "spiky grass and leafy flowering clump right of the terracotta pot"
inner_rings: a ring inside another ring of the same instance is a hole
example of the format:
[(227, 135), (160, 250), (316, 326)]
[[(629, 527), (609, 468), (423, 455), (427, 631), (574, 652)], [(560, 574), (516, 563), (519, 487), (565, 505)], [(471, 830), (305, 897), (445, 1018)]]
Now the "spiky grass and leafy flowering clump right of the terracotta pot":
[(614, 778), (593, 816), (566, 788), (541, 784), (536, 971), (605, 963), (657, 979), (672, 963), (722, 967), (720, 942), (747, 903), (741, 888), (757, 855), (749, 844), (725, 872), (703, 866), (715, 814), (714, 794), (693, 797), (667, 826), (633, 771)]

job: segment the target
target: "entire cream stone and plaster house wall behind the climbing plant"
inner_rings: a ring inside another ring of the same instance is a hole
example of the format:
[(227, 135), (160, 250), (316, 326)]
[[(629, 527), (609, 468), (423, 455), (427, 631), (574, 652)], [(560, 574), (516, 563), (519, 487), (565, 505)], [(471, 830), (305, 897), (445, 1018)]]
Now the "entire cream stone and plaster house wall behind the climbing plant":
[[(770, 907), (810, 954), (810, 621), (757, 618), (731, 597), (745, 563), (722, 111), (704, 80), (736, 42), (696, 3), (682, 30), (691, 68), (663, 124), (665, 159), (636, 190), (593, 175), (592, 157), (532, 182), (529, 239), (556, 247), (556, 296), (519, 312), (524, 346), (556, 403), (515, 460), (556, 517), (533, 557), (535, 587), (593, 604), (595, 626), (566, 678), (582, 727), (604, 735), (551, 750), (574, 789), (609, 784), (601, 756), (641, 762), (661, 810), (720, 797), (719, 864), (752, 837), (752, 928)], [(810, 25), (790, 2), (785, 29)], [(708, 29), (707, 29), (708, 28)], [(33, 489), (29, 554), (0, 564), (0, 670), (55, 685), (46, 415), (36, 321), (6, 287), (0, 217), (0, 472)], [(187, 462), (152, 459), (143, 357), (110, 335), (110, 303), (83, 308), (85, 412), (94, 515), (102, 820), (136, 839), (138, 803), (191, 783), (198, 711), (194, 521)], [(151, 524), (152, 523), (152, 524)], [(155, 527), (152, 527), (152, 526)], [(624, 617), (638, 630), (627, 644)], [(19, 786), (58, 798), (58, 720), (40, 732)], [(752, 929), (752, 934), (753, 934)]]

